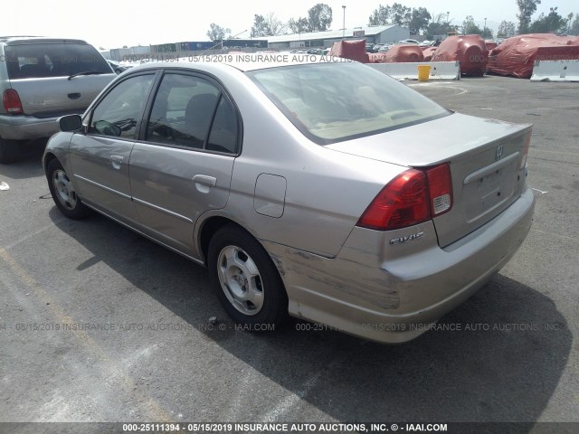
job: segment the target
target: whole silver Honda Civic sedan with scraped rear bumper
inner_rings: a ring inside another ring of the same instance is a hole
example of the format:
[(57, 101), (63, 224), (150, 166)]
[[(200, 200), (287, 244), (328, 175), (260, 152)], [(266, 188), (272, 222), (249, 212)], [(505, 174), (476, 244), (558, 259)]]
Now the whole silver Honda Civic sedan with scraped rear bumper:
[(207, 267), (250, 327), (411, 340), (507, 263), (535, 205), (530, 125), (357, 62), (147, 63), (60, 125), (43, 156), (60, 211)]

